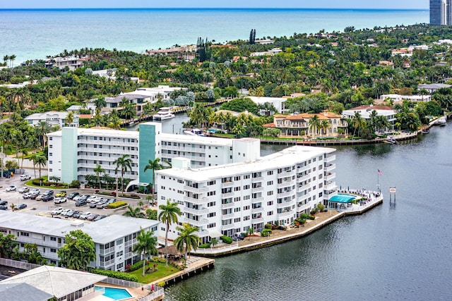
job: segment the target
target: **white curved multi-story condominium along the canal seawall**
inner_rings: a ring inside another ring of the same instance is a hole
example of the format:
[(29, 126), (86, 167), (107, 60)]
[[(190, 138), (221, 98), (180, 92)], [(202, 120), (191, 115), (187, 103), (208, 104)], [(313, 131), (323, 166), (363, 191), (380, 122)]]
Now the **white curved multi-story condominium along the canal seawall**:
[[(182, 211), (179, 224), (198, 227), (201, 241), (235, 235), (266, 223), (289, 225), (316, 204), (337, 194), (335, 149), (295, 146), (251, 161), (191, 168), (189, 159), (173, 159), (156, 171), (158, 204), (167, 199)], [(176, 226), (169, 239), (177, 238)], [(165, 231), (165, 225), (160, 229)]]

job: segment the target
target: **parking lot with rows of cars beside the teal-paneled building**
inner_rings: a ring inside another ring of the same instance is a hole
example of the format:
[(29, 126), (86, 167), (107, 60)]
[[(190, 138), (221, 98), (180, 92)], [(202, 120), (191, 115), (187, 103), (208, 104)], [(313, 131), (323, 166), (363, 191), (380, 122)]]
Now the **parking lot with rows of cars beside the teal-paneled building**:
[[(109, 216), (112, 214), (124, 214), (124, 212), (126, 211), (126, 208), (121, 208), (121, 209), (97, 209), (97, 208), (90, 208), (89, 207), (89, 203), (81, 206), (81, 207), (76, 207), (76, 202), (70, 199), (67, 199), (66, 202), (61, 203), (61, 204), (54, 204), (54, 200), (51, 200), (49, 202), (42, 202), (42, 201), (37, 201), (36, 199), (23, 199), (23, 193), (18, 192), (18, 190), (20, 190), (20, 188), (25, 187), (25, 181), (21, 181), (19, 175), (13, 176), (11, 178), (1, 178), (0, 179), (0, 199), (1, 201), (7, 201), (8, 204), (8, 210), (11, 211), (11, 204), (16, 205), (16, 207), (19, 204), (26, 204), (27, 207), (25, 209), (20, 209), (20, 210), (16, 210), (16, 212), (24, 212), (27, 214), (38, 214), (38, 215), (42, 215), (42, 216), (49, 216), (50, 218), (52, 218), (52, 215), (50, 214), (50, 211), (52, 211), (53, 209), (57, 208), (57, 207), (61, 207), (63, 209), (72, 209), (72, 210), (77, 210), (77, 211), (83, 211), (83, 212), (91, 212), (93, 214), (98, 214), (98, 215), (105, 215), (105, 216)], [(8, 188), (8, 186), (10, 185), (15, 185), (16, 186), (16, 191), (6, 191), (6, 188)], [(32, 190), (34, 188), (30, 187), (30, 190)], [(44, 191), (49, 190), (47, 188), (40, 188), (40, 194), (42, 194)], [(61, 190), (54, 190), (54, 195), (55, 196), (58, 192), (60, 192)], [(68, 189), (66, 190), (67, 195), (69, 195), (71, 192), (79, 192), (81, 195), (95, 195), (94, 190), (73, 190), (73, 189)], [(67, 198), (66, 195), (66, 198)], [(109, 196), (105, 196), (105, 195), (97, 195), (99, 197), (104, 197), (104, 198), (112, 198)], [(138, 202), (140, 201), (139, 199), (122, 199), (119, 198), (119, 200), (124, 200), (125, 202), (129, 203), (132, 207), (136, 207)], [(147, 203), (147, 201), (145, 199), (141, 199), (145, 204)], [(71, 218), (66, 218), (66, 217), (62, 217), (58, 215), (54, 215), (54, 217), (59, 217), (62, 219), (71, 219)]]

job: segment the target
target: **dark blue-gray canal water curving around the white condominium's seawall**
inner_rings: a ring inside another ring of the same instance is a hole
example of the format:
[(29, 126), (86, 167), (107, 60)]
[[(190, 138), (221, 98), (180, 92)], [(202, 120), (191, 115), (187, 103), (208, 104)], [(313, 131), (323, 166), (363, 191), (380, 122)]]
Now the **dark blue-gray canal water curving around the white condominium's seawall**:
[(165, 289), (165, 300), (452, 300), (451, 149), (451, 123), (398, 145), (338, 147), (338, 186), (376, 190), (380, 170), (381, 206), (218, 258), (215, 269)]

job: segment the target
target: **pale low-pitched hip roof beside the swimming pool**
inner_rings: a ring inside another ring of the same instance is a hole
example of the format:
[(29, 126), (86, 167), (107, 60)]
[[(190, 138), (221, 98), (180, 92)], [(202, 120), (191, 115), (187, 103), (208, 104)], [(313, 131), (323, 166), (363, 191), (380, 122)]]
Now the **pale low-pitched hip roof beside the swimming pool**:
[[(106, 278), (107, 276), (83, 271), (74, 271), (71, 269), (59, 268), (57, 266), (40, 266), (39, 268), (25, 271), (22, 274), (0, 281), (0, 284), (27, 283), (39, 290), (43, 290), (45, 293), (61, 298), (76, 292), (77, 290), (103, 281)], [(16, 300), (28, 300), (28, 298), (19, 298)]]

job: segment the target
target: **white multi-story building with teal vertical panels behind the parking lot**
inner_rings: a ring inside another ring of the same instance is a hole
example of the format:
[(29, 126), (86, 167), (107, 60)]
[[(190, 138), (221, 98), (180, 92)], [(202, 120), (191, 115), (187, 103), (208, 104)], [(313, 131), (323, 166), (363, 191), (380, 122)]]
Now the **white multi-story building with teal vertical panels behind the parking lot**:
[(161, 123), (141, 123), (138, 132), (99, 128), (63, 128), (47, 134), (49, 146), (49, 176), (64, 183), (85, 182), (86, 175), (95, 174), (100, 164), (109, 176), (120, 176), (114, 164), (120, 156), (129, 154), (131, 171), (124, 178), (138, 183), (151, 183), (152, 172), (144, 172), (149, 160), (172, 161), (175, 156), (189, 158), (192, 166), (218, 166), (256, 159), (260, 141), (256, 139), (222, 139), (162, 133)]

